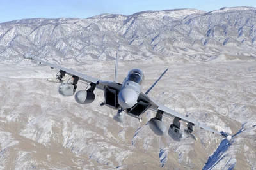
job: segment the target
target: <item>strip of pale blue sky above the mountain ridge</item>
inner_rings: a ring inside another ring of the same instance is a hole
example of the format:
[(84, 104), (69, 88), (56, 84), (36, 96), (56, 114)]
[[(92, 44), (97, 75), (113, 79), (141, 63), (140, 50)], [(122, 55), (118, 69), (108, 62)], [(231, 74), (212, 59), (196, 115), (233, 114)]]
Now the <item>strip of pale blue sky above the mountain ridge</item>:
[(88, 18), (102, 13), (132, 15), (147, 10), (251, 6), (255, 0), (0, 0), (0, 23), (26, 18)]

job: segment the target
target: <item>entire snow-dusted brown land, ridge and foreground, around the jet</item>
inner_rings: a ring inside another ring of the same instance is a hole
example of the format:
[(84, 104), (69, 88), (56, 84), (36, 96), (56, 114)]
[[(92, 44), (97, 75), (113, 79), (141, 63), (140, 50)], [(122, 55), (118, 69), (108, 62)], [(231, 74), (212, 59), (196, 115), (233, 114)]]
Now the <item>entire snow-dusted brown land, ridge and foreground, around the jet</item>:
[[(0, 24), (0, 169), (256, 169), (255, 15), (236, 7)], [(156, 136), (152, 111), (119, 124), (116, 110), (99, 106), (104, 92), (78, 104), (47, 82), (55, 70), (22, 58), (113, 80), (116, 50), (119, 82), (138, 67), (145, 92), (169, 67), (149, 96), (232, 141), (197, 127), (198, 141)]]

